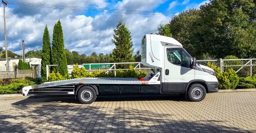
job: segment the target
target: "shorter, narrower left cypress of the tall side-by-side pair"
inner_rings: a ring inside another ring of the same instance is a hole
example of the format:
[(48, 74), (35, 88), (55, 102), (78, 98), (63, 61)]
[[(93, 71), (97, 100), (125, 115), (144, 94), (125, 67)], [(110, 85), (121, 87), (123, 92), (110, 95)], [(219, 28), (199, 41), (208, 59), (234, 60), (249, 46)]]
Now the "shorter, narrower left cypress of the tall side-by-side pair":
[(46, 26), (44, 36), (42, 36), (42, 53), (41, 53), (41, 79), (46, 81), (46, 65), (51, 64), (51, 42), (48, 28)]

